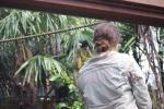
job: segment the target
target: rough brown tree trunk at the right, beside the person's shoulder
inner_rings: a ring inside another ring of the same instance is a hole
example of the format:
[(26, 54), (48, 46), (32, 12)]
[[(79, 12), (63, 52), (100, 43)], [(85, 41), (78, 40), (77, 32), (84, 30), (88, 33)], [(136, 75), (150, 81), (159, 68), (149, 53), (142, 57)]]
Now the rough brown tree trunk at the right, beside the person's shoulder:
[(150, 71), (153, 72), (155, 80), (155, 88), (150, 85), (150, 95), (153, 101), (153, 109), (164, 109), (164, 95), (162, 88), (161, 63), (157, 55), (159, 48), (156, 36), (153, 32), (154, 27), (138, 26), (138, 48), (147, 57)]

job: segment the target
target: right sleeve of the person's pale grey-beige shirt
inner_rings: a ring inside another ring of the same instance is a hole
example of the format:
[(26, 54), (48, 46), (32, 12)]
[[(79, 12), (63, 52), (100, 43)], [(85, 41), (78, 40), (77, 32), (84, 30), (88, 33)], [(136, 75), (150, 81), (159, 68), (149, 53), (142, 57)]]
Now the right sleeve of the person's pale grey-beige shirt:
[(137, 106), (139, 109), (152, 109), (152, 101), (145, 85), (143, 72), (133, 58), (131, 58), (131, 62), (132, 66), (130, 68), (129, 80)]

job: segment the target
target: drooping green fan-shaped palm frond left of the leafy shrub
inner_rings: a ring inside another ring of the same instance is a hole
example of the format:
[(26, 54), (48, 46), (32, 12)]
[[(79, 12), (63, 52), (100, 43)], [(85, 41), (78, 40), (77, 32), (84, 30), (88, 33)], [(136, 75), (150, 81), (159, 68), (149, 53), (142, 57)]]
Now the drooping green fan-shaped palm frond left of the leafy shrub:
[(43, 78), (46, 78), (46, 75), (62, 73), (62, 65), (52, 57), (35, 56), (25, 61), (15, 72), (15, 75), (19, 73), (24, 73), (23, 84), (33, 80), (35, 80), (35, 83), (44, 84)]

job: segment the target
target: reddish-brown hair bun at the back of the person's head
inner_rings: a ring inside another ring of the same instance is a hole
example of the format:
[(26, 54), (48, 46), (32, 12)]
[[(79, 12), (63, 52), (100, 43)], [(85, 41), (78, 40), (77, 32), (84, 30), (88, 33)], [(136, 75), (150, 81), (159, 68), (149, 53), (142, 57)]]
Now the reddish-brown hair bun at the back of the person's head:
[(94, 49), (96, 53), (105, 52), (109, 49), (109, 41), (107, 39), (98, 38), (94, 40)]

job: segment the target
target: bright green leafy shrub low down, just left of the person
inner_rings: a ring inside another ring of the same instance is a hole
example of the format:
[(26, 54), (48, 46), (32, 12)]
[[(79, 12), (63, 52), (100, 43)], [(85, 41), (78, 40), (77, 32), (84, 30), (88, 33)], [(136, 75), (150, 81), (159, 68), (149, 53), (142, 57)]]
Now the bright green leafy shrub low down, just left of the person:
[[(49, 81), (55, 84), (56, 95), (58, 95), (56, 96), (58, 102), (56, 109), (83, 109), (82, 99), (74, 86), (72, 74), (66, 71), (62, 71), (62, 73), (51, 73)], [(63, 94), (61, 92), (63, 92)]]

